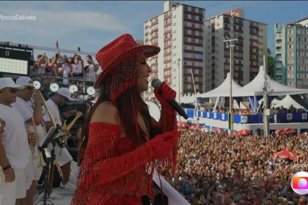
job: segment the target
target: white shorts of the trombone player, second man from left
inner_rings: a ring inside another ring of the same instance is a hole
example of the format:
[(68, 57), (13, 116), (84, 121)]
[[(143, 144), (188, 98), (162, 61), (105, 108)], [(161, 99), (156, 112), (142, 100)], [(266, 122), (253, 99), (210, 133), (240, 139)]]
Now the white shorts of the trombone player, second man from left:
[(40, 180), (42, 175), (43, 167), (38, 167), (40, 164), (39, 156), (35, 156), (35, 159), (32, 162), (32, 157), (29, 156), (29, 162), (25, 168), (26, 179), (27, 179), (27, 190), (30, 188), (33, 180)]

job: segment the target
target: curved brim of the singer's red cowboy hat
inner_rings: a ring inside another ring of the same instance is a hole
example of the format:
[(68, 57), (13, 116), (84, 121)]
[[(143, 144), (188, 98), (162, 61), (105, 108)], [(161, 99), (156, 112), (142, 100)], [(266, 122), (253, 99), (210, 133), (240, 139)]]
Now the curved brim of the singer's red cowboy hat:
[(133, 54), (141, 51), (144, 53), (146, 58), (149, 58), (159, 53), (160, 47), (154, 45), (137, 45), (128, 49), (126, 52), (113, 59), (105, 68), (103, 68), (103, 71), (95, 81), (94, 87), (100, 88), (104, 77), (107, 76), (112, 71), (112, 69), (115, 68), (124, 58), (132, 56)]

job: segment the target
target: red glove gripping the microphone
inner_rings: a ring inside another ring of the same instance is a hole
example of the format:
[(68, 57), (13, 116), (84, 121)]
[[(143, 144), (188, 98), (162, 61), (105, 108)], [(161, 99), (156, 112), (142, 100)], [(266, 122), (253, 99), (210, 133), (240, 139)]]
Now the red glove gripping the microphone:
[(176, 96), (176, 91), (169, 87), (165, 81), (161, 83), (160, 87), (154, 89), (154, 93), (161, 106), (170, 106), (168, 101)]

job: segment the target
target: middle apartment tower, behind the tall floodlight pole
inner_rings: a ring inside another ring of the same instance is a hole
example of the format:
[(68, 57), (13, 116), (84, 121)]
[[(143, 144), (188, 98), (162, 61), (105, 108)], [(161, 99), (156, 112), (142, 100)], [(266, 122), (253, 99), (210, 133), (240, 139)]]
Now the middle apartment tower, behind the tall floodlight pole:
[(240, 85), (251, 81), (267, 56), (267, 24), (244, 18), (244, 10), (237, 8), (204, 21), (205, 90), (217, 87), (230, 70), (229, 48), (224, 39), (232, 42), (233, 78)]

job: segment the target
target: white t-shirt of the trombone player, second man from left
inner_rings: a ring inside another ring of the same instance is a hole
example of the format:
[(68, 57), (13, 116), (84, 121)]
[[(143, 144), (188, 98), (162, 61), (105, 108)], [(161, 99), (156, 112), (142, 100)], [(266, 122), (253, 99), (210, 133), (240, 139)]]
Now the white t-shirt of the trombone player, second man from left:
[[(17, 96), (16, 102), (12, 103), (12, 106), (14, 106), (19, 111), (19, 113), (24, 117), (25, 121), (33, 117), (34, 109), (32, 108), (30, 101), (27, 102), (21, 97)], [(39, 134), (40, 143), (42, 143), (47, 133), (45, 132), (45, 129), (41, 124), (36, 126)], [(26, 123), (26, 129), (29, 129), (28, 123)], [(34, 131), (34, 128), (32, 127), (32, 129), (30, 130)]]

